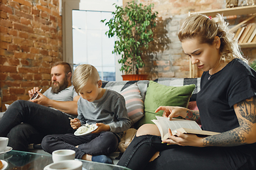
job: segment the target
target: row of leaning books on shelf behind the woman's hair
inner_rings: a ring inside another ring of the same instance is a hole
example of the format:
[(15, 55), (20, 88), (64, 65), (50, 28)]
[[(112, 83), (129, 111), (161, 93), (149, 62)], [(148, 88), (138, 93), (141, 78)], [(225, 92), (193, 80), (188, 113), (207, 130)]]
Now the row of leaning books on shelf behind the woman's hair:
[(238, 28), (235, 33), (235, 39), (240, 44), (256, 42), (256, 23), (250, 23), (247, 26)]

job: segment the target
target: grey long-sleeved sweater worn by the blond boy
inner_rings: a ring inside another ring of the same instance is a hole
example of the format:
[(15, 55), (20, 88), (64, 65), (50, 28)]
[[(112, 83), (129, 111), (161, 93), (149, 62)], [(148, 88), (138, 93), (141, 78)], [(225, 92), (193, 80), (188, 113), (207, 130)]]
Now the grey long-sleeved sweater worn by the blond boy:
[(80, 97), (78, 119), (82, 124), (104, 123), (110, 125), (110, 131), (116, 133), (128, 130), (132, 125), (127, 115), (124, 97), (110, 89), (106, 89), (102, 98), (93, 102)]

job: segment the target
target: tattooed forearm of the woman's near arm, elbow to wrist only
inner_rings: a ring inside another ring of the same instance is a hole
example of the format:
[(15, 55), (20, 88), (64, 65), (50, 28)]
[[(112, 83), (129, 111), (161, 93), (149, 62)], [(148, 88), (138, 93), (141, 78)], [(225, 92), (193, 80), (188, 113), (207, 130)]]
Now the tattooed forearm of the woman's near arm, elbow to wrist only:
[(203, 139), (203, 146), (233, 147), (245, 144), (245, 133), (251, 131), (252, 125), (246, 120), (238, 119), (240, 126), (219, 135), (209, 136)]

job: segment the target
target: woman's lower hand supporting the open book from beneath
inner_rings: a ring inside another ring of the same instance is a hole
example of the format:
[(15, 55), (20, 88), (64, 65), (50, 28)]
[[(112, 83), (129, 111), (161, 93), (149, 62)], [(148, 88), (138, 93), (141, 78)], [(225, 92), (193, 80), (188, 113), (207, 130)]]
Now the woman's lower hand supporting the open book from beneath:
[(181, 145), (181, 146), (191, 146), (191, 147), (203, 147), (203, 137), (198, 137), (197, 135), (184, 134), (177, 131), (176, 135), (172, 135), (171, 130), (168, 130), (169, 138), (163, 140), (162, 142), (167, 145)]

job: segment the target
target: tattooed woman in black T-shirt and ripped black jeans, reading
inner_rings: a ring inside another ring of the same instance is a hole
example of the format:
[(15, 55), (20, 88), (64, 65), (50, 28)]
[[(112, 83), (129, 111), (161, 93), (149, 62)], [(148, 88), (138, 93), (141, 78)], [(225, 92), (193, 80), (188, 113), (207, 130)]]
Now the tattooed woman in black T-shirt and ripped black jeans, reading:
[(218, 135), (177, 132), (161, 141), (156, 125), (142, 125), (118, 164), (130, 169), (256, 169), (256, 72), (242, 57), (228, 23), (217, 15), (188, 16), (178, 32), (183, 51), (203, 70), (199, 111), (160, 106), (164, 117), (201, 122)]

